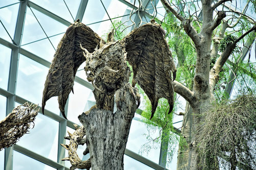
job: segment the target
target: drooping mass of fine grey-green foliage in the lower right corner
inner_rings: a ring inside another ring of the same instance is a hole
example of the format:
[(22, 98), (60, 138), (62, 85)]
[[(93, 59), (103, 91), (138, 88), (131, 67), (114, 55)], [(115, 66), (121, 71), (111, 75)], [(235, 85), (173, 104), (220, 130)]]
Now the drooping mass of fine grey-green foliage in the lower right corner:
[(197, 148), (207, 159), (200, 165), (211, 169), (212, 159), (218, 159), (222, 169), (255, 169), (256, 96), (240, 95), (226, 102), (215, 104), (205, 113)]

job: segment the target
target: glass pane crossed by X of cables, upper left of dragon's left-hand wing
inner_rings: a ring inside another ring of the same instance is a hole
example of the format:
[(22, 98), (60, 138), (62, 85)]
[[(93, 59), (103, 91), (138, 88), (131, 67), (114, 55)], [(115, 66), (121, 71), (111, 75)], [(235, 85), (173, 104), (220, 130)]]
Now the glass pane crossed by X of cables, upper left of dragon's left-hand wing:
[[(33, 8), (32, 11), (51, 42), (39, 26), (39, 23), (31, 10), (28, 9), (24, 26), (22, 47), (41, 58), (52, 61), (55, 53), (54, 47), (55, 49), (57, 48), (57, 44), (60, 41), (63, 33), (66, 32), (67, 26), (62, 25), (56, 20), (38, 12)], [(54, 47), (51, 43), (54, 45)]]

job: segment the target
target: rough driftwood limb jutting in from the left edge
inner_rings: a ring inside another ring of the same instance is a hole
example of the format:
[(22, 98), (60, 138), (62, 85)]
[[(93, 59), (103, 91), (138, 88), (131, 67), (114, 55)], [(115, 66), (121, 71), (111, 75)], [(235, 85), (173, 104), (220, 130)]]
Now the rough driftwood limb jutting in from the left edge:
[(17, 106), (0, 122), (0, 151), (15, 144), (20, 137), (28, 133), (33, 125), (39, 108), (38, 105), (29, 104)]

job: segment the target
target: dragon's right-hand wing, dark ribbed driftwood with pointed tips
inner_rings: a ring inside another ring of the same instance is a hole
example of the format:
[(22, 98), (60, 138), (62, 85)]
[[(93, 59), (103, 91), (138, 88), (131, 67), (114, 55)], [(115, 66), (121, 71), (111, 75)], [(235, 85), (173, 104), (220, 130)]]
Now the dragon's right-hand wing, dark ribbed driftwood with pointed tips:
[(125, 46), (126, 59), (133, 68), (133, 86), (138, 83), (151, 101), (151, 118), (160, 98), (168, 100), (168, 113), (174, 106), (171, 71), (175, 79), (176, 66), (160, 26), (154, 21), (146, 23), (120, 41)]

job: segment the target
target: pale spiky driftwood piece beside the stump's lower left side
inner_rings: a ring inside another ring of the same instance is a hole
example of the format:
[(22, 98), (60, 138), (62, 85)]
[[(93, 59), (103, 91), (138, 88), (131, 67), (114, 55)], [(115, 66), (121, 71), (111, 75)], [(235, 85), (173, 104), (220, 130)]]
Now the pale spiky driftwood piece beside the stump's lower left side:
[[(76, 150), (78, 148), (78, 144), (84, 144), (86, 143), (86, 139), (84, 135), (86, 135), (83, 126), (79, 127), (77, 125), (74, 125), (76, 130), (73, 134), (71, 134), (68, 131), (69, 136), (65, 137), (65, 139), (70, 140), (70, 144), (61, 144), (62, 147), (64, 147), (66, 150), (68, 150), (69, 157), (61, 159), (62, 161), (70, 161), (71, 167), (70, 169), (90, 169), (91, 167), (91, 159), (89, 158), (88, 160), (82, 161), (77, 153)], [(88, 152), (87, 152), (88, 153)]]

